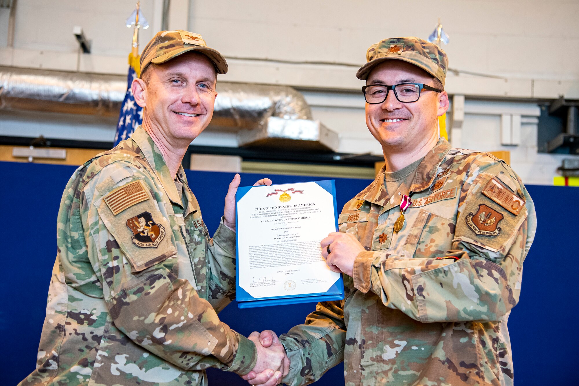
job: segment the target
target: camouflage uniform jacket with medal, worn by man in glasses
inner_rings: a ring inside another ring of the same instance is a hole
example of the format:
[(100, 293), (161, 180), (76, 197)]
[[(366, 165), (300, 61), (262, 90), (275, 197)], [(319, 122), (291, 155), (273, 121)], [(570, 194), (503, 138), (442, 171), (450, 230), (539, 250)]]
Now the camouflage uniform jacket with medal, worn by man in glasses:
[(281, 337), (291, 385), (342, 359), (347, 386), (512, 384), (507, 318), (519, 300), (536, 217), (521, 180), (444, 139), (417, 167), (404, 228), (384, 169), (339, 216), (367, 250), (344, 275), (343, 301)]

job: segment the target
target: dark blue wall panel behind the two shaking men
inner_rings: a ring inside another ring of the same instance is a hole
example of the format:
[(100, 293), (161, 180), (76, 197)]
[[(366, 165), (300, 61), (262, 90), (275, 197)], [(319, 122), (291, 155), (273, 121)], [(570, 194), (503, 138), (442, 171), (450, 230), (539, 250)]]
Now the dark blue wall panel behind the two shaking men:
[[(46, 293), (56, 256), (56, 216), (73, 166), (0, 162), (0, 202), (3, 204), (0, 280), (0, 385), (16, 385), (34, 369)], [(233, 173), (187, 172), (203, 218), (214, 232), (223, 213), (223, 198)], [(241, 184), (263, 178), (242, 174)], [(316, 180), (313, 177), (269, 176), (274, 183)], [(327, 179), (327, 178), (320, 178)], [(361, 191), (368, 180), (336, 179), (338, 208)], [(571, 291), (571, 262), (579, 219), (579, 188), (529, 186), (536, 204), (538, 231), (523, 270), (519, 305), (509, 327), (515, 360), (516, 385), (573, 384), (571, 371), (579, 355), (577, 301)], [(550, 260), (550, 264), (546, 264)], [(278, 334), (302, 323), (315, 304), (238, 309), (230, 304), (220, 318), (246, 336), (273, 329)], [(212, 385), (247, 384), (235, 374), (209, 371)], [(336, 366), (317, 383), (343, 385), (343, 366)]]

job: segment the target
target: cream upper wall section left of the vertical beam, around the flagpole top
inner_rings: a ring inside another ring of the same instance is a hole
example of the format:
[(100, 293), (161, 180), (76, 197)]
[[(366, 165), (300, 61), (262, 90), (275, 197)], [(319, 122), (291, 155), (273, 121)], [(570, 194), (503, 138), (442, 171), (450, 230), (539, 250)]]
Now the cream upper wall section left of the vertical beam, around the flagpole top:
[[(160, 28), (160, 0), (142, 0), (149, 27), (141, 32), (148, 42)], [(162, 2), (162, 1), (161, 1)], [(18, 0), (14, 47), (6, 46), (9, 9), (0, 9), (0, 65), (47, 70), (123, 74), (131, 51), (133, 30), (124, 25), (135, 8), (130, 0)], [(91, 41), (91, 53), (79, 53), (72, 28), (80, 26)]]

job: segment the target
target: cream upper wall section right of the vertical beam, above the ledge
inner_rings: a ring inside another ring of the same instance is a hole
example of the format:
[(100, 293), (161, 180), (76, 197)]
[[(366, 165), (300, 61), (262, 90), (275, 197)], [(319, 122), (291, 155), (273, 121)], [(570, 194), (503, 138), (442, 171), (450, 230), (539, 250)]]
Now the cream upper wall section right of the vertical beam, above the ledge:
[(192, 0), (189, 27), (228, 57), (280, 61), (233, 59), (232, 72), (226, 75), (232, 80), (357, 89), (361, 82), (354, 74), (365, 63), (369, 45), (387, 37), (426, 39), (441, 17), (450, 35), (450, 44), (444, 47), (450, 68), (504, 77), (450, 74), (449, 92), (579, 96), (579, 2), (575, 0), (251, 0), (226, 4), (217, 9), (214, 2)]

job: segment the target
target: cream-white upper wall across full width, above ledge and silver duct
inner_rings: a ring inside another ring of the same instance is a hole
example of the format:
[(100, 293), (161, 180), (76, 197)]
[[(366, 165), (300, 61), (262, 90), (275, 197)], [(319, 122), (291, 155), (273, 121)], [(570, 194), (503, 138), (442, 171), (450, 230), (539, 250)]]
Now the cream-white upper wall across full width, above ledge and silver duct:
[[(160, 29), (163, 1), (141, 3), (151, 24), (144, 45)], [(5, 47), (9, 10), (0, 9), (0, 65), (122, 74), (131, 43), (123, 21), (134, 4), (18, 0), (13, 48)], [(369, 45), (426, 38), (441, 17), (450, 68), (466, 71), (449, 74), (450, 93), (579, 98), (577, 0), (171, 0), (171, 7), (170, 28), (200, 32), (230, 58), (223, 77), (230, 81), (355, 90)], [(92, 40), (90, 55), (79, 56), (74, 26)]]

